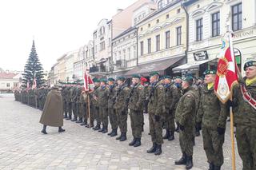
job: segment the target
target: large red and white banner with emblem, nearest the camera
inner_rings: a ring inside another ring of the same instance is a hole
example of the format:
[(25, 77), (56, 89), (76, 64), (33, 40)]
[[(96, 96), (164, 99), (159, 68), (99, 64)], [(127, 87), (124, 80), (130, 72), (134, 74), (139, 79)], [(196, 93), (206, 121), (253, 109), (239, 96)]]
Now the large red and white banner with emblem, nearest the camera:
[(237, 64), (234, 58), (232, 34), (230, 32), (222, 38), (222, 48), (218, 58), (214, 92), (224, 104), (232, 97), (234, 85), (238, 84)]

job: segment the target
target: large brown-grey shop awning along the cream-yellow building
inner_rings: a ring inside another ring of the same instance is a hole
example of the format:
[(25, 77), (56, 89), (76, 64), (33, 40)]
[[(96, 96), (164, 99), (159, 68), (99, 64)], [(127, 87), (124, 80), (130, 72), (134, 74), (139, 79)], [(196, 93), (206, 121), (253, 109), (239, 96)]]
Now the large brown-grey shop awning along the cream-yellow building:
[(162, 74), (162, 72), (165, 69), (167, 69), (171, 65), (174, 65), (178, 61), (182, 60), (183, 57), (184, 56), (173, 57), (163, 61), (155, 61), (155, 62), (150, 62), (144, 65), (138, 65), (134, 67), (134, 69), (131, 69), (130, 71), (128, 71), (125, 75), (130, 76), (134, 73), (138, 73), (138, 74), (141, 74), (142, 76), (148, 76), (153, 71), (157, 71), (157, 72), (160, 72), (160, 74)]

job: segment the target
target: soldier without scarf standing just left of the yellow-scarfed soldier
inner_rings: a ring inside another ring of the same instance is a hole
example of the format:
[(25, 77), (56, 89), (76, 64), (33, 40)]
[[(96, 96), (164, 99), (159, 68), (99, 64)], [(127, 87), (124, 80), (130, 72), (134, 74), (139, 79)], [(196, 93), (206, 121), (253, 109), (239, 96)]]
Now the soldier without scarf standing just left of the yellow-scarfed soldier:
[(175, 164), (186, 164), (186, 169), (193, 167), (193, 140), (196, 119), (196, 101), (194, 90), (191, 87), (193, 77), (185, 77), (182, 81), (182, 97), (178, 101), (175, 119), (179, 125), (179, 144), (182, 149), (182, 158)]

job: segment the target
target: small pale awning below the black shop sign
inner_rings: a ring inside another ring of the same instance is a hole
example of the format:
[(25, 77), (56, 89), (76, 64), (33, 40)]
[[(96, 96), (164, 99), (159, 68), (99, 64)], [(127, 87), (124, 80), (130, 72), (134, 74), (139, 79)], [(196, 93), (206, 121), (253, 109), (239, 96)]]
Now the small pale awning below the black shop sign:
[(186, 63), (185, 65), (179, 65), (178, 67), (174, 67), (172, 71), (174, 73), (181, 73), (186, 71), (194, 71), (199, 69), (199, 65), (202, 65), (209, 60), (203, 60), (203, 61), (194, 61), (194, 63)]

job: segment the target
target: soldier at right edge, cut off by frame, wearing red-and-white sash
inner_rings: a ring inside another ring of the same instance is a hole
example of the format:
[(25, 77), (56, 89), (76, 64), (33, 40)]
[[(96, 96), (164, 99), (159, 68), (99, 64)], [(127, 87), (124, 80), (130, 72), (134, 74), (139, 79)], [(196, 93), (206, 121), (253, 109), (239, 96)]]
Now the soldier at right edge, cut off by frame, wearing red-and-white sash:
[[(244, 65), (246, 77), (239, 79), (234, 87), (234, 125), (238, 153), (242, 159), (242, 170), (256, 169), (256, 109), (243, 99), (241, 85), (246, 86), (247, 93), (256, 99), (256, 61), (247, 61)], [(229, 104), (230, 105), (230, 104)], [(232, 105), (230, 105), (232, 106)]]

